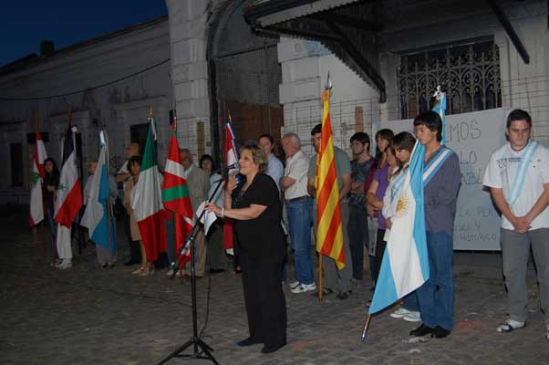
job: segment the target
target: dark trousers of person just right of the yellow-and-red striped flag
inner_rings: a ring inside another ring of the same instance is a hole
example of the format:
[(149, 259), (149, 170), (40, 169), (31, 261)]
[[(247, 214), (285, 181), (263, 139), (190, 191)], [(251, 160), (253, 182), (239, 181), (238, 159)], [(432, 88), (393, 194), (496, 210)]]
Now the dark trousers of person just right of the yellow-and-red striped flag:
[(366, 211), (357, 205), (349, 204), (349, 249), (353, 262), (353, 277), (362, 280), (364, 273), (364, 247), (368, 247), (368, 218)]

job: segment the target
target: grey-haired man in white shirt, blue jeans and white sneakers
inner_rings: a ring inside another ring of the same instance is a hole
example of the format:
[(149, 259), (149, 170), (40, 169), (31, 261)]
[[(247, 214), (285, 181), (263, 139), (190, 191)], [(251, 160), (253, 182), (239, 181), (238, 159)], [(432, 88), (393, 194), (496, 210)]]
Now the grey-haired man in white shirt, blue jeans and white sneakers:
[(309, 158), (301, 151), (301, 141), (295, 133), (282, 138), (286, 154), (286, 167), (280, 188), (285, 195), (285, 206), (294, 249), (295, 282), (290, 284), (292, 293), (316, 290), (313, 263), (311, 262), (311, 224), (313, 223), (313, 198), (307, 193)]

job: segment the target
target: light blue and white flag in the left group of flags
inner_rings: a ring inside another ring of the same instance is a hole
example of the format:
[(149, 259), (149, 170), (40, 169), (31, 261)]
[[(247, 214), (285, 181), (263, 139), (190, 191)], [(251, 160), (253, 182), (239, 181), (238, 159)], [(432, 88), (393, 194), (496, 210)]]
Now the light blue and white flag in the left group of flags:
[[(110, 226), (110, 247), (112, 255), (116, 255), (116, 242), (114, 235), (114, 224), (108, 216), (107, 209), (109, 204), (109, 175), (106, 160), (107, 146), (101, 131), (101, 152), (99, 153), (98, 166), (91, 180), (89, 189), (88, 203), (84, 216), (82, 217), (82, 225), (88, 227), (89, 238), (109, 252), (109, 226)], [(108, 222), (110, 219), (110, 222)]]

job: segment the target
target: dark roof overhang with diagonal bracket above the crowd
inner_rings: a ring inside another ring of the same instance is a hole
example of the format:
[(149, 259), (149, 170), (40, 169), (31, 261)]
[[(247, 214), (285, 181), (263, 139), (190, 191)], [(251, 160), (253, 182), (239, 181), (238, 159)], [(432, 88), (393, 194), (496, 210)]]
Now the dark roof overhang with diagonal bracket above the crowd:
[(375, 44), (375, 32), (380, 26), (364, 16), (372, 3), (364, 0), (262, 0), (248, 6), (244, 17), (258, 33), (319, 41), (360, 78), (378, 89), (380, 102), (384, 102), (385, 80), (378, 72)]

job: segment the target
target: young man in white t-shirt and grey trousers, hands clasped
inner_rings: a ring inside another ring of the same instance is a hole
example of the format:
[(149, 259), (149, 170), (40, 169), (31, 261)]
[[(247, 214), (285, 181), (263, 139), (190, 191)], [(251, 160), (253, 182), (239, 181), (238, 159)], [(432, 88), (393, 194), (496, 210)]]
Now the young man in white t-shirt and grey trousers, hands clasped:
[(502, 213), (502, 265), (508, 291), (509, 318), (498, 332), (526, 324), (526, 270), (532, 247), (541, 309), (549, 339), (549, 150), (530, 141), (532, 119), (524, 110), (507, 117), (508, 143), (493, 152), (483, 184)]

